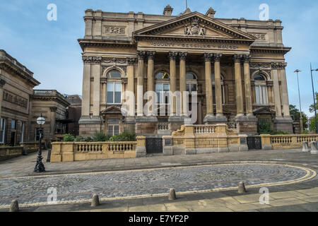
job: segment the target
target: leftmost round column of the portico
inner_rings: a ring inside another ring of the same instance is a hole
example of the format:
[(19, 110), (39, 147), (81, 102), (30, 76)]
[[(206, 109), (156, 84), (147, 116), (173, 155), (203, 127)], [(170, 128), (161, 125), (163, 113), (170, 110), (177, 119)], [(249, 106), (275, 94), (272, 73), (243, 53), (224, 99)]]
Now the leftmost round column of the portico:
[(146, 52), (137, 51), (138, 57), (138, 75), (137, 75), (137, 116), (143, 116), (143, 70)]

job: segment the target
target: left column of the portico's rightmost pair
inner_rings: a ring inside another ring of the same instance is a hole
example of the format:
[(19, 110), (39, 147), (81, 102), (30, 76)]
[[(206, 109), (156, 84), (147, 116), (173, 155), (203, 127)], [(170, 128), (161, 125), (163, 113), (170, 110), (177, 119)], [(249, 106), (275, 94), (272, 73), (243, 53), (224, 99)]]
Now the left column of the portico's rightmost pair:
[(237, 118), (244, 116), (243, 106), (243, 91), (242, 91), (242, 77), (241, 77), (241, 59), (242, 55), (234, 55), (235, 65), (235, 94), (236, 94), (236, 111)]

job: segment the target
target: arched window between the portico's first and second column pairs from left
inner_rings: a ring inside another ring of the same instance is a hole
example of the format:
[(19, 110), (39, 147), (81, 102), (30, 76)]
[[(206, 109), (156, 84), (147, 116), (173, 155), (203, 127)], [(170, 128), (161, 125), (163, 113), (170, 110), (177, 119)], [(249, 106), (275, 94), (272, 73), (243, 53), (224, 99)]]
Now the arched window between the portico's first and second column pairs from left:
[(155, 93), (157, 103), (168, 105), (170, 103), (170, 76), (168, 73), (160, 71), (155, 75)]

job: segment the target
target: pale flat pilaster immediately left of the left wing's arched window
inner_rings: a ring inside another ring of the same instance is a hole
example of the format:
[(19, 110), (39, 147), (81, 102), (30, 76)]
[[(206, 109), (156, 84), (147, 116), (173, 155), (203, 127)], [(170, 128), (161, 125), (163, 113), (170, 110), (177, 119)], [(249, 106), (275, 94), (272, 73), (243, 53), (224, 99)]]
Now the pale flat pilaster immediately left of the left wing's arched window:
[(100, 63), (102, 57), (93, 57), (92, 75), (93, 83), (93, 118), (100, 119)]

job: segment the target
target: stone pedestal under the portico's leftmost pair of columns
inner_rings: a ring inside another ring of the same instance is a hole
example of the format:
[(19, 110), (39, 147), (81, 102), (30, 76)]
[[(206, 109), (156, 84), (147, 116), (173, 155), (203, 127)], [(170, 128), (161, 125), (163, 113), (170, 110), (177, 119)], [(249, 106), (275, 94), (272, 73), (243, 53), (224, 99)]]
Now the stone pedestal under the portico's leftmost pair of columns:
[(155, 116), (136, 117), (136, 136), (147, 136), (157, 134), (158, 119)]

